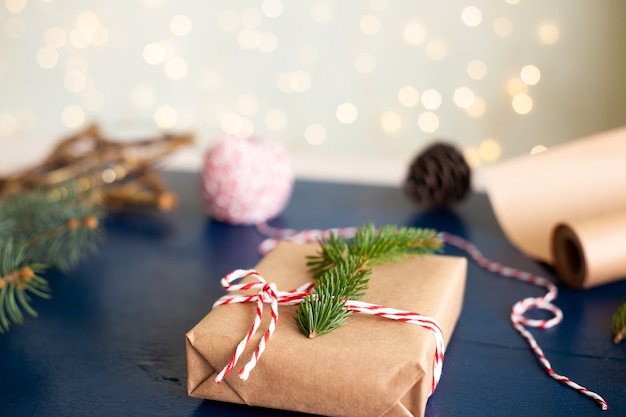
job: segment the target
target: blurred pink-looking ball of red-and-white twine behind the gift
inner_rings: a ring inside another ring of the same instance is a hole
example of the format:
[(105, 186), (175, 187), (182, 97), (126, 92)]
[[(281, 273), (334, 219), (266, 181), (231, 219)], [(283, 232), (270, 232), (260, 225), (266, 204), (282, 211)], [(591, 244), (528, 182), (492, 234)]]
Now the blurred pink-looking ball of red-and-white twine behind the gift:
[(226, 136), (208, 150), (201, 173), (209, 214), (232, 224), (258, 224), (279, 215), (294, 174), (285, 148), (268, 137)]

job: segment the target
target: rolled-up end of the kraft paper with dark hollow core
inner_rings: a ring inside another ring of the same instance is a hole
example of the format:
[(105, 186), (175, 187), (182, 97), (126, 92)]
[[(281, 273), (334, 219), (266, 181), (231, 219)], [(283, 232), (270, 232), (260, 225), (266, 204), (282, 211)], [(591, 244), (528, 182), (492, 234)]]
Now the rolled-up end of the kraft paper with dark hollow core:
[(554, 267), (571, 287), (626, 278), (626, 211), (560, 224), (552, 243)]

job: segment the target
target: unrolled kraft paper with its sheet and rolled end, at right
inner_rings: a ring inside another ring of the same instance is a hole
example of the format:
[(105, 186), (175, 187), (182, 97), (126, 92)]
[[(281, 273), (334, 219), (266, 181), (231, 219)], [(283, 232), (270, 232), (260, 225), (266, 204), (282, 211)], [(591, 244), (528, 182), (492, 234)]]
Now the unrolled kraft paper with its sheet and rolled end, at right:
[(626, 128), (495, 164), (485, 180), (508, 239), (567, 284), (626, 277)]

